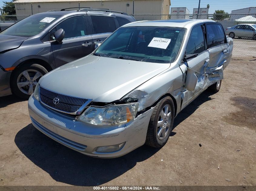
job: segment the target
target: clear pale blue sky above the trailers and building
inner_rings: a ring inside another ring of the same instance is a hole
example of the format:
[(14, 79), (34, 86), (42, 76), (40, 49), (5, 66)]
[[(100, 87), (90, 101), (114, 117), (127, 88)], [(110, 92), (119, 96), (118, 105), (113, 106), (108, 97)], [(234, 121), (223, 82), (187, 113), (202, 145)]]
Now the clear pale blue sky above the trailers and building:
[[(0, 1), (0, 7), (2, 7), (3, 0)], [(187, 7), (190, 13), (193, 13), (193, 8), (198, 8), (198, 2), (199, 0), (171, 0), (171, 7)], [(209, 14), (218, 9), (231, 13), (232, 10), (236, 9), (256, 7), (255, 0), (201, 0), (200, 7), (204, 8), (207, 4), (210, 4)]]

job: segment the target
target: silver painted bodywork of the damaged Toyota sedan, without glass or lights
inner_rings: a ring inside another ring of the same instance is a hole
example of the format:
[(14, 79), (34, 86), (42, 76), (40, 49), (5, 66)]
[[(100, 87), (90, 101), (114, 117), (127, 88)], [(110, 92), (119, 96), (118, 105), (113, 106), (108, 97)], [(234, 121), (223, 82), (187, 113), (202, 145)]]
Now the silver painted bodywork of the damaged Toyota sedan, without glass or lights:
[[(33, 124), (39, 130), (40, 125), (42, 125), (64, 138), (86, 145), (87, 148), (82, 153), (90, 156), (115, 158), (143, 145), (152, 109), (157, 100), (165, 95), (171, 96), (175, 102), (175, 114), (177, 115), (209, 85), (223, 79), (223, 69), (230, 62), (232, 55), (233, 44), (230, 38), (228, 38), (228, 43), (210, 48), (188, 61), (188, 66), (198, 75), (198, 81), (194, 91), (185, 89), (188, 68), (182, 62), (183, 56), (192, 27), (202, 22), (214, 21), (190, 20), (190, 22), (185, 23), (136, 22), (123, 26), (185, 27), (187, 33), (181, 51), (176, 61), (171, 64), (89, 55), (49, 72), (39, 81), (39, 84), (44, 88), (60, 94), (93, 99), (94, 102), (109, 103), (126, 97), (136, 97), (139, 102), (138, 110), (145, 112), (137, 116), (134, 121), (116, 127), (90, 126), (76, 121), (75, 118), (50, 110), (31, 96), (28, 102), (29, 114), (32, 117), (32, 122), (34, 119), (39, 123), (39, 126)], [(224, 50), (227, 50), (227, 52), (224, 53)], [(126, 129), (125, 133), (121, 133), (123, 128)], [(43, 133), (58, 141), (47, 132)], [(106, 136), (108, 136), (108, 139)], [(92, 137), (94, 138), (90, 139)], [(120, 151), (108, 153), (104, 156), (94, 152), (96, 146), (100, 144), (100, 146), (112, 145), (124, 141), (126, 142), (125, 147)], [(65, 142), (58, 142), (68, 146)], [(72, 148), (72, 146), (68, 147)], [(74, 147), (72, 149), (77, 150)]]

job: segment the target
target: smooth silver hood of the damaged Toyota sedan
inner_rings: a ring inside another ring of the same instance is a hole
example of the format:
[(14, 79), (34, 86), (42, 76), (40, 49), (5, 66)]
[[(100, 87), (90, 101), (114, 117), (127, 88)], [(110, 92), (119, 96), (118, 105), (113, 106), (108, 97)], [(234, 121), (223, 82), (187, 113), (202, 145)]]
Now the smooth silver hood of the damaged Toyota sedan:
[(59, 94), (109, 103), (169, 67), (170, 64), (88, 55), (49, 72), (39, 84)]

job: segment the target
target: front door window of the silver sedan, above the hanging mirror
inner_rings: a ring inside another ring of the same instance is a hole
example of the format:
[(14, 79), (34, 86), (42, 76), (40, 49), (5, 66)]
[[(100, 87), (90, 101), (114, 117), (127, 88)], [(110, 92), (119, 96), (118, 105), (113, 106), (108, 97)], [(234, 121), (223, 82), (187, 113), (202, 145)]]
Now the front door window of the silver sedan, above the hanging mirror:
[(201, 25), (192, 29), (187, 48), (186, 54), (198, 54), (205, 50), (204, 46), (204, 33)]

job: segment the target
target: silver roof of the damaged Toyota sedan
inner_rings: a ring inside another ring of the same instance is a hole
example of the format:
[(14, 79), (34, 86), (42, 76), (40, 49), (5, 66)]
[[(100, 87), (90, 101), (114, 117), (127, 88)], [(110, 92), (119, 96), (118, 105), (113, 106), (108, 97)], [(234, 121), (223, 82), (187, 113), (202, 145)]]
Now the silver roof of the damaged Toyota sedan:
[(205, 22), (215, 22), (209, 19), (168, 19), (158, 21), (137, 21), (124, 25), (123, 27), (143, 27), (143, 26), (154, 26), (154, 27), (182, 27), (191, 28), (196, 24)]

